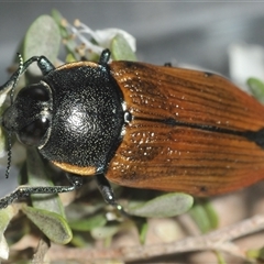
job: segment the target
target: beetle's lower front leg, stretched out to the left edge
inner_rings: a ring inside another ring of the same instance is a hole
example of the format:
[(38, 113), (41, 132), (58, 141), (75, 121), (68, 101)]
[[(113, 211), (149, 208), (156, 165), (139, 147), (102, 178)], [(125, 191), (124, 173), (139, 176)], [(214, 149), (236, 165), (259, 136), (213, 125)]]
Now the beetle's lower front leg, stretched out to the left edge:
[(59, 193), (67, 193), (75, 190), (82, 185), (82, 177), (66, 174), (70, 185), (69, 186), (20, 186), (10, 195), (7, 195), (2, 199), (0, 199), (0, 209), (6, 208), (7, 206), (11, 205), (14, 200), (21, 199), (23, 197), (28, 197), (33, 194), (59, 194)]

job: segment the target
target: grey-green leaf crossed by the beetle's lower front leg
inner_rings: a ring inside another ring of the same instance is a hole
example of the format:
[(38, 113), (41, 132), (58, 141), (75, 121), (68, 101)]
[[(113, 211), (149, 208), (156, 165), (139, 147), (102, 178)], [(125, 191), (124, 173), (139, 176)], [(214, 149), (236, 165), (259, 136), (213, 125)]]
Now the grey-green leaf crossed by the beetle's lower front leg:
[[(48, 177), (48, 172), (40, 153), (34, 147), (26, 148), (26, 172), (30, 186), (54, 186)], [(65, 218), (64, 207), (56, 194), (31, 195), (32, 205), (35, 208), (47, 209), (62, 215)]]

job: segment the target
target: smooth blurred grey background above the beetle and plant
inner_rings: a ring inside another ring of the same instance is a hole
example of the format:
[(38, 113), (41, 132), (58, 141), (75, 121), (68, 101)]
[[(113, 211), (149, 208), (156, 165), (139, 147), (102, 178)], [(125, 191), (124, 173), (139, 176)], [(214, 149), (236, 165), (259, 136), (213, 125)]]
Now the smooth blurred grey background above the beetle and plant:
[[(119, 28), (135, 36), (138, 57), (200, 66), (229, 76), (228, 51), (233, 43), (264, 46), (264, 3), (242, 1), (9, 1), (0, 2), (0, 82), (8, 78), (16, 47), (30, 24), (57, 9), (73, 23), (94, 30)], [(263, 58), (261, 58), (263, 59)], [(0, 172), (0, 194), (12, 190), (15, 177)]]

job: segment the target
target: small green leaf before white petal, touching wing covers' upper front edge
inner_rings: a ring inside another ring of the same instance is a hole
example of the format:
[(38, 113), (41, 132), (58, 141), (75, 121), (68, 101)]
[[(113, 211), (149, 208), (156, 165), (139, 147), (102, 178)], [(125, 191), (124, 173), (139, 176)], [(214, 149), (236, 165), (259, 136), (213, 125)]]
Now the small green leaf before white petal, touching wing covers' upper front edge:
[(122, 34), (117, 34), (112, 38), (110, 50), (113, 61), (136, 61), (135, 54)]

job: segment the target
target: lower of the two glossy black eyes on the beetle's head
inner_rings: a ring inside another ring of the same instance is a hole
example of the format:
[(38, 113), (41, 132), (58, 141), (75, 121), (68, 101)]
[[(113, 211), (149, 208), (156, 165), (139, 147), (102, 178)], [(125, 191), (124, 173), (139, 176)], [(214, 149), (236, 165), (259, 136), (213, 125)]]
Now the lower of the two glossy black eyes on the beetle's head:
[(50, 127), (50, 120), (46, 118), (37, 119), (21, 129), (18, 133), (19, 140), (31, 146), (38, 146)]

